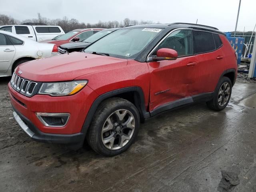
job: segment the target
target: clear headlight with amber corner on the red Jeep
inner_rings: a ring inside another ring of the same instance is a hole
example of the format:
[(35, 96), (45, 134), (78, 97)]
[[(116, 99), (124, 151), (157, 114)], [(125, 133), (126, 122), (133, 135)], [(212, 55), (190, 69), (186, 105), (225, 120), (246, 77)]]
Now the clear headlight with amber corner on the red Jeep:
[(87, 83), (87, 80), (43, 83), (39, 90), (39, 94), (51, 96), (74, 95), (84, 88)]

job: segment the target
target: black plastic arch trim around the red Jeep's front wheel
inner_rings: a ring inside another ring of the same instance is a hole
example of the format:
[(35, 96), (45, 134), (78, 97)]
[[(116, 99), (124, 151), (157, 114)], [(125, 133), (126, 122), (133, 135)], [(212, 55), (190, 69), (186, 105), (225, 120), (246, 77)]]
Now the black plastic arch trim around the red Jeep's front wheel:
[(112, 90), (110, 92), (106, 92), (100, 96), (98, 96), (92, 106), (90, 107), (90, 110), (86, 116), (86, 119), (84, 121), (84, 124), (82, 126), (82, 130), (81, 132), (86, 135), (87, 130), (90, 126), (90, 123), (92, 122), (92, 118), (98, 108), (98, 106), (100, 105), (100, 103), (103, 100), (106, 100), (108, 98), (111, 98), (113, 96), (116, 96), (118, 94), (122, 94), (122, 93), (126, 93), (126, 92), (136, 92), (136, 94), (134, 95), (134, 101), (135, 101), (135, 106), (137, 107), (140, 116), (142, 116), (142, 118), (144, 119), (148, 119), (150, 117), (149, 112), (146, 111), (146, 104), (145, 104), (145, 99), (144, 99), (144, 92), (142, 90), (142, 88), (140, 88), (139, 86), (132, 86), (132, 87), (126, 87), (126, 88), (120, 88), (117, 90)]

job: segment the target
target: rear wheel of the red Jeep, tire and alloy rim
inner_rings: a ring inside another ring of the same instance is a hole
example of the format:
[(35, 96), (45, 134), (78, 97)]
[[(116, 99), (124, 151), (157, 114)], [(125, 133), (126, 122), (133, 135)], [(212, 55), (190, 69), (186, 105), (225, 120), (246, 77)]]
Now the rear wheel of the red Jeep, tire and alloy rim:
[[(228, 94), (228, 88), (229, 88), (229, 94)], [(221, 92), (221, 90), (223, 92)], [(222, 77), (215, 88), (212, 100), (206, 102), (208, 108), (215, 111), (223, 110), (228, 105), (231, 93), (232, 93), (232, 83), (230, 81), (230, 78)]]

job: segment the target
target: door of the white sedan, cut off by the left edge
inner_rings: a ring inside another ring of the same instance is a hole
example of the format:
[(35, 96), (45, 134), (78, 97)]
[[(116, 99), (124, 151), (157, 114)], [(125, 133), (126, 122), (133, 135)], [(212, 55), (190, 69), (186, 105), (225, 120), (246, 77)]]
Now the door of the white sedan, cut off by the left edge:
[(12, 59), (14, 58), (16, 49), (6, 36), (0, 33), (0, 74), (7, 72)]

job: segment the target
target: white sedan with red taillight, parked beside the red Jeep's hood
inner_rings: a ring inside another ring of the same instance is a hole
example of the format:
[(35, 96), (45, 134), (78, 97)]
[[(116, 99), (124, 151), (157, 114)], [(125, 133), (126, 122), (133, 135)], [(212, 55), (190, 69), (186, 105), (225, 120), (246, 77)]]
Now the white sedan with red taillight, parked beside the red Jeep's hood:
[(12, 76), (14, 69), (27, 61), (58, 55), (54, 44), (38, 43), (27, 37), (0, 31), (0, 77)]

